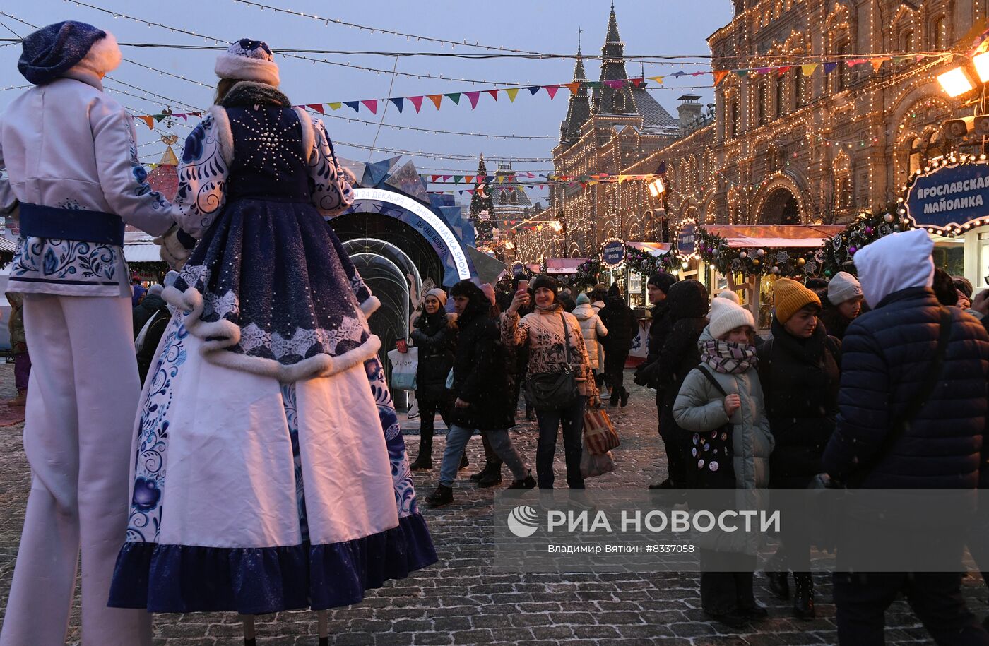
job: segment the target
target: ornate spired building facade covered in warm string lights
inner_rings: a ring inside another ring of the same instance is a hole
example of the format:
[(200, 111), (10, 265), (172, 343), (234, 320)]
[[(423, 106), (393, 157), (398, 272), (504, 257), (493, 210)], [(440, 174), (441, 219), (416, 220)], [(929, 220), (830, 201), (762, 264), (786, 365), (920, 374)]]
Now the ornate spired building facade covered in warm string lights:
[[(716, 70), (789, 65), (808, 56), (962, 51), (989, 11), (989, 0), (734, 3), (732, 22), (708, 38)], [(623, 48), (612, 9), (601, 81), (626, 78)], [(736, 63), (733, 56), (742, 58)], [(644, 182), (557, 186), (536, 219), (561, 220), (565, 237), (519, 231), (515, 259), (594, 257), (611, 237), (668, 241), (683, 218), (841, 223), (895, 202), (908, 173), (946, 150), (943, 121), (971, 114), (936, 80), (950, 64), (912, 56), (877, 70), (864, 63), (826, 72), (821, 64), (810, 76), (799, 64), (782, 74), (730, 72), (713, 106), (681, 97), (678, 119), (646, 90), (603, 86), (588, 96), (582, 87), (570, 98), (553, 150), (555, 172), (647, 174), (663, 162), (668, 210)], [(579, 58), (575, 80), (583, 78)], [(975, 146), (962, 142), (960, 150)]]

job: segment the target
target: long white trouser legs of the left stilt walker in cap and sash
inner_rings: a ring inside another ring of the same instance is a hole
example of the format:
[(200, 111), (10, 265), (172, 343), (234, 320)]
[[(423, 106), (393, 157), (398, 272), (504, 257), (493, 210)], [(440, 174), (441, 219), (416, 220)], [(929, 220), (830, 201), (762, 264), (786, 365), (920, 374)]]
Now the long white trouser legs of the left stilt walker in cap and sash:
[(140, 392), (131, 300), (27, 294), (24, 319), (32, 486), (0, 646), (64, 643), (80, 547), (83, 645), (150, 644), (147, 612), (107, 607)]

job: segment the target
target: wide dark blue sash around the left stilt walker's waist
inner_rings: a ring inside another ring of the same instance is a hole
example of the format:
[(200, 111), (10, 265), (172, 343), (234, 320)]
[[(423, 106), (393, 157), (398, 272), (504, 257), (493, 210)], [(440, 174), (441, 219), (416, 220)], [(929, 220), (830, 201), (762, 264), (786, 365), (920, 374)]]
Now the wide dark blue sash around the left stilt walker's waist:
[(55, 240), (124, 244), (124, 220), (99, 210), (21, 202), (21, 235)]

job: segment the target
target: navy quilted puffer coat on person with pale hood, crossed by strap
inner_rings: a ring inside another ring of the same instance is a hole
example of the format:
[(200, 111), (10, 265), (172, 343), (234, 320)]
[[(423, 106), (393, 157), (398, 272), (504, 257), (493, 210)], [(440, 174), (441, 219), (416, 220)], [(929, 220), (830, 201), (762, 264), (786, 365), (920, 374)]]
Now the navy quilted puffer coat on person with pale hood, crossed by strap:
[[(971, 489), (989, 486), (986, 377), (989, 336), (974, 317), (949, 307), (951, 335), (941, 378), (900, 439), (861, 481), (867, 489)], [(929, 287), (889, 294), (849, 326), (842, 343), (838, 426), (824, 468), (847, 480), (869, 463), (891, 422), (918, 391), (934, 361), (941, 309)]]

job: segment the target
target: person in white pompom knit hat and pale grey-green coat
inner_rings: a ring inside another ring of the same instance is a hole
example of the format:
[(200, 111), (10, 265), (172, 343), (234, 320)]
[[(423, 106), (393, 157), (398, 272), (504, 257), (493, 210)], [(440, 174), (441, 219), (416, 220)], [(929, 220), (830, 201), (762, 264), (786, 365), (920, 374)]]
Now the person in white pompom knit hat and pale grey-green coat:
[[(691, 453), (696, 462), (688, 468), (697, 470), (701, 486), (717, 479), (727, 486), (734, 481), (736, 489), (765, 489), (773, 441), (756, 371), (758, 357), (752, 342), (755, 321), (749, 310), (728, 298), (714, 299), (710, 320), (697, 342), (701, 363), (686, 375), (674, 403), (676, 424), (694, 434)], [(700, 436), (729, 424), (731, 458), (720, 456), (719, 460), (719, 455), (709, 450), (711, 444), (700, 442)], [(695, 542), (704, 612), (732, 627), (766, 616), (753, 591), (758, 545), (752, 536), (741, 532), (702, 534)], [(722, 571), (729, 569), (726, 563), (737, 563), (739, 558), (751, 563), (751, 570)]]

